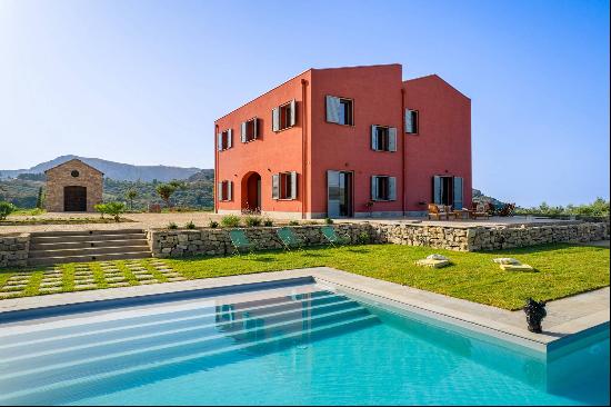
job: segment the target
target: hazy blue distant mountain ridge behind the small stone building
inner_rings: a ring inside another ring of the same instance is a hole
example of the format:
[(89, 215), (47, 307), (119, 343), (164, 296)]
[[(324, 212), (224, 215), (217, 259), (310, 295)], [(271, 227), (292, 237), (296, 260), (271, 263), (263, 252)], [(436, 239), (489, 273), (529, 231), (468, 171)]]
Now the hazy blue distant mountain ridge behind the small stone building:
[[(121, 163), (114, 161), (102, 160), (100, 158), (88, 158), (78, 156), (61, 156), (50, 161), (41, 162), (28, 169), (19, 170), (0, 170), (0, 179), (2, 178), (17, 178), (20, 173), (41, 173), (69, 161), (78, 158), (83, 162), (87, 162), (91, 167), (94, 167), (104, 173), (104, 177), (120, 180), (120, 181), (158, 181), (166, 182), (172, 179), (188, 179), (202, 170), (200, 168), (191, 167), (166, 167), (166, 166), (132, 166), (129, 163)], [(212, 170), (208, 170), (212, 171)]]

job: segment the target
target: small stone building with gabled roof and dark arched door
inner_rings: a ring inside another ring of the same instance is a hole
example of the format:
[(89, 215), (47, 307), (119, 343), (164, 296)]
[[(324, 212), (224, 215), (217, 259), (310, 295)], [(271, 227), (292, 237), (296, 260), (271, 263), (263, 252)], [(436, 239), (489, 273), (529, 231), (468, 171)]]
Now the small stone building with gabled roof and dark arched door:
[(49, 212), (92, 212), (102, 202), (103, 172), (72, 159), (44, 171)]

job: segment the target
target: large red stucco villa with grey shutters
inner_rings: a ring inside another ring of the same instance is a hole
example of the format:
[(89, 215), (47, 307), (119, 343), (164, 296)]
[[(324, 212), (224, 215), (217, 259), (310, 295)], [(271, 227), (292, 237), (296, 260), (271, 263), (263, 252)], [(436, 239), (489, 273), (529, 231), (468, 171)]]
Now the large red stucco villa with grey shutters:
[(471, 100), (400, 64), (309, 69), (214, 122), (219, 214), (417, 216), (471, 205)]

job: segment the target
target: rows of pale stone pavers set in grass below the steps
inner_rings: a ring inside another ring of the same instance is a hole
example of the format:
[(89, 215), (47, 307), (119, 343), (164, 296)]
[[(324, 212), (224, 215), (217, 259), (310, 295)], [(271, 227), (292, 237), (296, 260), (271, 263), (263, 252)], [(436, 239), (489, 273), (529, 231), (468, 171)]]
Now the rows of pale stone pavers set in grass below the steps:
[[(100, 269), (109, 288), (129, 287), (131, 284), (126, 275), (113, 261), (100, 261)], [(124, 261), (126, 267), (138, 280), (138, 285), (149, 285), (167, 281), (182, 281), (186, 278), (161, 260), (149, 261), (148, 265), (157, 270), (153, 275), (147, 267), (147, 262), (141, 260)], [(22, 271), (13, 274), (2, 286), (0, 286), (0, 300), (14, 298), (23, 294), (23, 290), (30, 285), (33, 272)], [(156, 275), (166, 277), (166, 281), (158, 279)], [(74, 290), (98, 289), (98, 281), (89, 264), (79, 264), (74, 266)], [(40, 294), (63, 292), (63, 270), (59, 266), (51, 266), (42, 271), (42, 279), (38, 287)]]

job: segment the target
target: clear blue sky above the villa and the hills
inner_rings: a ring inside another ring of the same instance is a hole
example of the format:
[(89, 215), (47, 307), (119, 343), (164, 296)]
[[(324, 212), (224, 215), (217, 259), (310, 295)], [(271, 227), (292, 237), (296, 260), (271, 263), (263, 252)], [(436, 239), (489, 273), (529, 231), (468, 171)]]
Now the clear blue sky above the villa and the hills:
[(0, 169), (211, 168), (214, 118), (311, 67), (394, 62), (472, 99), (475, 188), (609, 198), (608, 1), (0, 0)]

